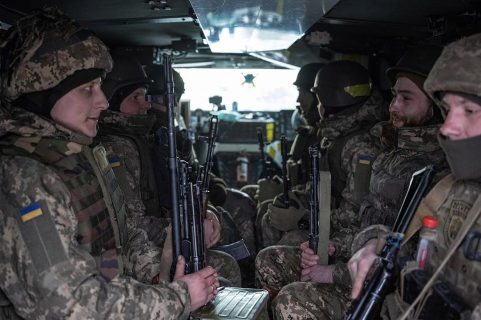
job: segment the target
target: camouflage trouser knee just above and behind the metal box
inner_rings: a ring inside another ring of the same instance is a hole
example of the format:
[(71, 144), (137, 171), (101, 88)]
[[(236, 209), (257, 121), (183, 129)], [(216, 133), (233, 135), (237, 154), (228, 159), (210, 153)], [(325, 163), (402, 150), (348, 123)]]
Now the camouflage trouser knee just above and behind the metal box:
[(206, 260), (207, 265), (213, 267), (218, 276), (229, 280), (233, 286), (240, 287), (240, 268), (231, 255), (217, 250), (207, 250)]

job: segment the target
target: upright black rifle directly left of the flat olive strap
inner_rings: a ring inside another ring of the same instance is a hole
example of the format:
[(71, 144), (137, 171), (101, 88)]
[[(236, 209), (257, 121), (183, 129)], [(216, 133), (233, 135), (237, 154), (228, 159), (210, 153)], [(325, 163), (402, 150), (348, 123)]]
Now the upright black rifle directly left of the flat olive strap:
[(309, 247), (317, 252), (319, 243), (319, 147), (317, 145), (309, 147), (309, 157), (311, 160), (311, 200), (309, 202), (311, 215), (309, 226)]

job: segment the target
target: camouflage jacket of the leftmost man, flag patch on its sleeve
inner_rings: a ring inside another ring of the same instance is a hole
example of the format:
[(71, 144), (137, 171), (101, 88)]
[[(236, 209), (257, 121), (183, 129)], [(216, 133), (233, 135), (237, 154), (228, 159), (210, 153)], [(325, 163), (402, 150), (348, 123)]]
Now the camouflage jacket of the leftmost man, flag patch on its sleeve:
[[(9, 114), (0, 108), (0, 142), (13, 135), (35, 140), (59, 139), (73, 153), (89, 151), (87, 145), (92, 142), (23, 109), (12, 108)], [(99, 166), (92, 161), (89, 164), (94, 168)], [(80, 224), (73, 207), (73, 197), (77, 195), (69, 191), (48, 165), (30, 156), (4, 152), (0, 156), (0, 179), (0, 212), (3, 212), (0, 287), (19, 316), (86, 319), (188, 316), (190, 298), (184, 282), (146, 285), (122, 275), (107, 282), (99, 275), (94, 257), (78, 242)], [(116, 194), (123, 197), (121, 189)], [(108, 201), (109, 194), (103, 196)], [(145, 230), (131, 219), (127, 222), (127, 256), (142, 276), (145, 265), (137, 261), (142, 260), (144, 248), (155, 245), (148, 241)], [(114, 228), (114, 232), (118, 231)]]

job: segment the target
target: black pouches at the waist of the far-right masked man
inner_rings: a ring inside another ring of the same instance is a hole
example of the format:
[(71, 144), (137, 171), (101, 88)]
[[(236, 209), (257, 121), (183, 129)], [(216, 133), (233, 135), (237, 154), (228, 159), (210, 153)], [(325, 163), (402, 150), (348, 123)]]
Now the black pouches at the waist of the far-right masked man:
[[(415, 264), (417, 265), (417, 262)], [(410, 262), (406, 263), (400, 272), (398, 290), (386, 297), (387, 310), (391, 319), (401, 315), (429, 281), (430, 276), (425, 270), (412, 265)], [(432, 286), (419, 306), (420, 309), (410, 314), (410, 318), (458, 320), (464, 318), (461, 316), (462, 313), (469, 312), (468, 306), (446, 283), (441, 281)]]

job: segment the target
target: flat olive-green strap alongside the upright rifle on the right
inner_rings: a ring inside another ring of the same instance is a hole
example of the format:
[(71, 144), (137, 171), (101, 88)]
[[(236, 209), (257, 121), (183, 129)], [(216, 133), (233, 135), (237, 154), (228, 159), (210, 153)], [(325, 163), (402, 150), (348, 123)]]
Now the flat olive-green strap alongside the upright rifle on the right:
[(331, 173), (319, 171), (319, 243), (317, 255), (318, 264), (328, 265), (329, 228), (331, 225)]

